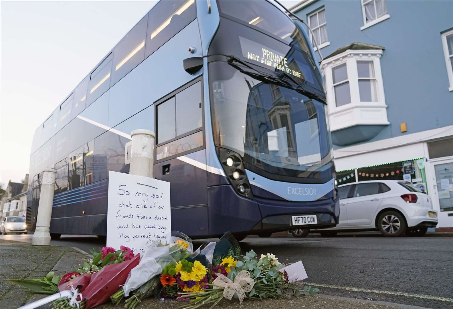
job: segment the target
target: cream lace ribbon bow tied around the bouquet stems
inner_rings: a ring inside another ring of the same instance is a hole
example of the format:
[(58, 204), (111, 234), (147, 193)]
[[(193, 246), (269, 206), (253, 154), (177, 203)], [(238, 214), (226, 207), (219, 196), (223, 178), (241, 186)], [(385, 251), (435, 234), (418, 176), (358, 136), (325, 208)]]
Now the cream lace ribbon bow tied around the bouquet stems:
[(237, 274), (234, 282), (222, 274), (216, 275), (216, 280), (212, 281), (214, 288), (223, 288), (223, 296), (230, 300), (233, 298), (234, 293), (236, 293), (239, 298), (239, 304), (242, 304), (242, 301), (246, 297), (246, 292), (250, 292), (253, 285), (255, 285), (255, 281), (250, 278), (250, 273), (247, 270), (242, 270)]

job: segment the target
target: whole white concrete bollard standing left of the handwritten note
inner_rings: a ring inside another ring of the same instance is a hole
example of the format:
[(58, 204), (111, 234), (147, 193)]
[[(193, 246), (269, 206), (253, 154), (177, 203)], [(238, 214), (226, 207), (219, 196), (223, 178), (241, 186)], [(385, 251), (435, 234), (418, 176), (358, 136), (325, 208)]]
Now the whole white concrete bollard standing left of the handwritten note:
[(39, 194), (38, 218), (36, 230), (31, 239), (34, 246), (50, 245), (50, 217), (52, 217), (53, 193), (55, 192), (55, 169), (43, 170), (43, 182)]

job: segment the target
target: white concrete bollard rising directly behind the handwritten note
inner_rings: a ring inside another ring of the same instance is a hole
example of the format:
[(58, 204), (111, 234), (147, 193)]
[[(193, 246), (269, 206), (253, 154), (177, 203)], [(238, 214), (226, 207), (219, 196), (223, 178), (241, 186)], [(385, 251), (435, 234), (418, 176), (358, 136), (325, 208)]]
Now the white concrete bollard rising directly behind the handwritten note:
[(153, 131), (138, 129), (130, 133), (132, 147), (130, 151), (129, 174), (153, 177), (154, 139)]

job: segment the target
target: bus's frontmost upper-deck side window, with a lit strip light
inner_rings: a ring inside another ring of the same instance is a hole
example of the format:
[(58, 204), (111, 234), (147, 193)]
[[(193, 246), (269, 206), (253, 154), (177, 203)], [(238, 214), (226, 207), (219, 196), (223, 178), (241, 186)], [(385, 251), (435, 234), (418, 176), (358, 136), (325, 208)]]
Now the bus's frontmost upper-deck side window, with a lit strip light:
[(159, 1), (149, 12), (146, 55), (154, 53), (197, 18), (195, 0)]

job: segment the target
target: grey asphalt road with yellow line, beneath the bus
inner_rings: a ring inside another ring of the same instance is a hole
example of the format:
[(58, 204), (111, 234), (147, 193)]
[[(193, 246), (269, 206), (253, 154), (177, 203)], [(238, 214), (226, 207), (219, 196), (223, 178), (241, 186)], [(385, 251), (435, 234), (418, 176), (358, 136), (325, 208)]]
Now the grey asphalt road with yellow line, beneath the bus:
[[(247, 237), (242, 250), (274, 253), (283, 263), (302, 260), (307, 283), (322, 294), (453, 308), (453, 238), (344, 234), (340, 237)], [(360, 237), (365, 236), (365, 237)], [(2, 238), (29, 241), (31, 235)], [(195, 241), (194, 246), (202, 241)], [(53, 245), (88, 251), (104, 245), (96, 237), (63, 236)]]

